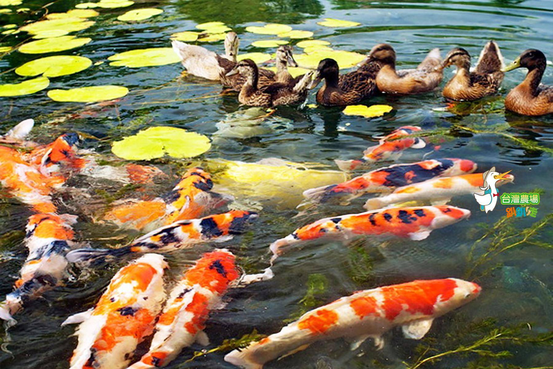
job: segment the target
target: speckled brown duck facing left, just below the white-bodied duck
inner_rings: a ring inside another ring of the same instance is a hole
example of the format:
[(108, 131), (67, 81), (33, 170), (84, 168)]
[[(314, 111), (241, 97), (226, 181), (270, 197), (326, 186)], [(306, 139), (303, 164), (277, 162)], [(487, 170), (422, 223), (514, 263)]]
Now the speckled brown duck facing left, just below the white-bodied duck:
[(248, 106), (293, 105), (305, 101), (307, 87), (311, 82), (313, 72), (307, 72), (294, 86), (274, 82), (267, 86), (259, 86), (259, 69), (252, 59), (239, 61), (227, 76), (240, 74), (246, 78), (238, 101)]

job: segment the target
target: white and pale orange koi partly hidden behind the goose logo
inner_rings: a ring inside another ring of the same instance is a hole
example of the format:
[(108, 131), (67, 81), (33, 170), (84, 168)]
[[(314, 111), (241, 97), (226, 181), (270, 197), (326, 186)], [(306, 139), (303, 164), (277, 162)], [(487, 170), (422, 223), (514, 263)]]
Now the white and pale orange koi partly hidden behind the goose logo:
[[(497, 185), (503, 185), (513, 180), (514, 176), (512, 174), (506, 174), (504, 180), (499, 181)], [(483, 185), (482, 173), (434, 178), (397, 188), (387, 196), (369, 199), (363, 207), (367, 210), (380, 209), (404, 201), (430, 201), (432, 205), (447, 204), (453, 196), (474, 193), (483, 195), (484, 190), (481, 189)]]

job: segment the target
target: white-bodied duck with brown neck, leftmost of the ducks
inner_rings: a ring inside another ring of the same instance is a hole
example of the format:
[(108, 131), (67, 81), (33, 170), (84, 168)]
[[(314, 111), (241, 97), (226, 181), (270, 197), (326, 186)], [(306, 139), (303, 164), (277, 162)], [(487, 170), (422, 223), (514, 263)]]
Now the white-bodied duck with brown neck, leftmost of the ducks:
[(236, 33), (228, 32), (225, 36), (224, 55), (177, 40), (171, 40), (171, 46), (189, 74), (219, 81), (221, 74), (225, 75), (236, 65), (239, 40)]

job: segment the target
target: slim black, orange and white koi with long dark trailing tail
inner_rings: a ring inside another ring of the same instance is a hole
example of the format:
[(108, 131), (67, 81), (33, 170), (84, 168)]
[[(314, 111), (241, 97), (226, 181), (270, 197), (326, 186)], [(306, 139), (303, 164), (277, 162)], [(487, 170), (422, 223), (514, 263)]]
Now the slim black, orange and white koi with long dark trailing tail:
[(81, 248), (67, 253), (67, 259), (75, 263), (133, 252), (166, 252), (198, 243), (225, 242), (244, 232), (246, 225), (257, 217), (255, 212), (232, 210), (200, 219), (179, 220), (137, 238), (130, 245), (114, 249)]

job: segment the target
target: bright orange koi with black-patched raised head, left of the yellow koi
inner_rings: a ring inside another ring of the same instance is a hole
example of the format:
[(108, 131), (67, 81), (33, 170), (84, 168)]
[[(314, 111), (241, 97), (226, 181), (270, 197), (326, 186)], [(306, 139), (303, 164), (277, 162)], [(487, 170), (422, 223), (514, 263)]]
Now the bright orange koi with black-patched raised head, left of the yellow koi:
[(170, 193), (153, 200), (123, 200), (103, 219), (137, 230), (153, 230), (178, 220), (196, 219), (233, 200), (232, 196), (212, 192), (212, 188), (208, 173), (191, 168)]

